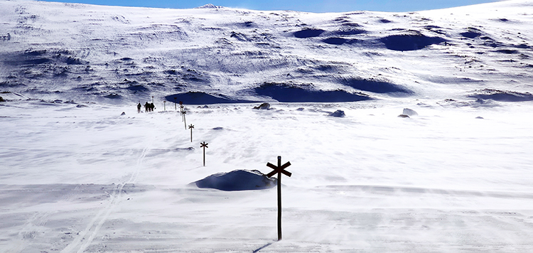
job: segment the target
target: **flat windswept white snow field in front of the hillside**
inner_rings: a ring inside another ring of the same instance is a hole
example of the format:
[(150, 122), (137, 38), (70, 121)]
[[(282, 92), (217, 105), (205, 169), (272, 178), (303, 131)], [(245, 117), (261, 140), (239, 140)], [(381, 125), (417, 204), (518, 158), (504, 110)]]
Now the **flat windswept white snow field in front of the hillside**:
[[(531, 102), (400, 101), (186, 105), (193, 143), (179, 113), (157, 103), (137, 114), (11, 102), (0, 118), (0, 249), (526, 252)], [(419, 116), (397, 117), (405, 107)], [(346, 117), (327, 116), (337, 109)], [(238, 168), (268, 173), (276, 156), (293, 173), (282, 180), (280, 242), (275, 188), (188, 185)]]

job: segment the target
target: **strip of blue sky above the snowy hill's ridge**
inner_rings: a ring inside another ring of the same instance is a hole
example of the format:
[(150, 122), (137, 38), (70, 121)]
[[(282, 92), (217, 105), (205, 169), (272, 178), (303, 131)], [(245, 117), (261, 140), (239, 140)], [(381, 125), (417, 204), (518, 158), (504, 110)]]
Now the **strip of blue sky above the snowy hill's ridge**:
[[(45, 0), (51, 1), (51, 0)], [(422, 11), (498, 0), (55, 0), (67, 3), (99, 4), (109, 6), (142, 6), (156, 8), (190, 9), (204, 4), (215, 4), (253, 10), (293, 10), (310, 12), (344, 11)]]

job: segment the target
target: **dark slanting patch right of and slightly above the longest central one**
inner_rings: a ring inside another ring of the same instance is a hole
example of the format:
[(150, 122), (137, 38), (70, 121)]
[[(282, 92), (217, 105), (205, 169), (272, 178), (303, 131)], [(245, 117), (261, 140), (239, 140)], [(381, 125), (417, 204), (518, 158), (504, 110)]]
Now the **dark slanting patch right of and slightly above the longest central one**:
[(364, 90), (367, 92), (376, 92), (376, 93), (400, 93), (404, 95), (413, 94), (411, 90), (403, 87), (401, 85), (395, 85), (391, 82), (384, 82), (374, 79), (362, 79), (360, 77), (356, 78), (345, 78), (340, 80), (340, 83), (343, 85), (348, 85), (357, 90)]

